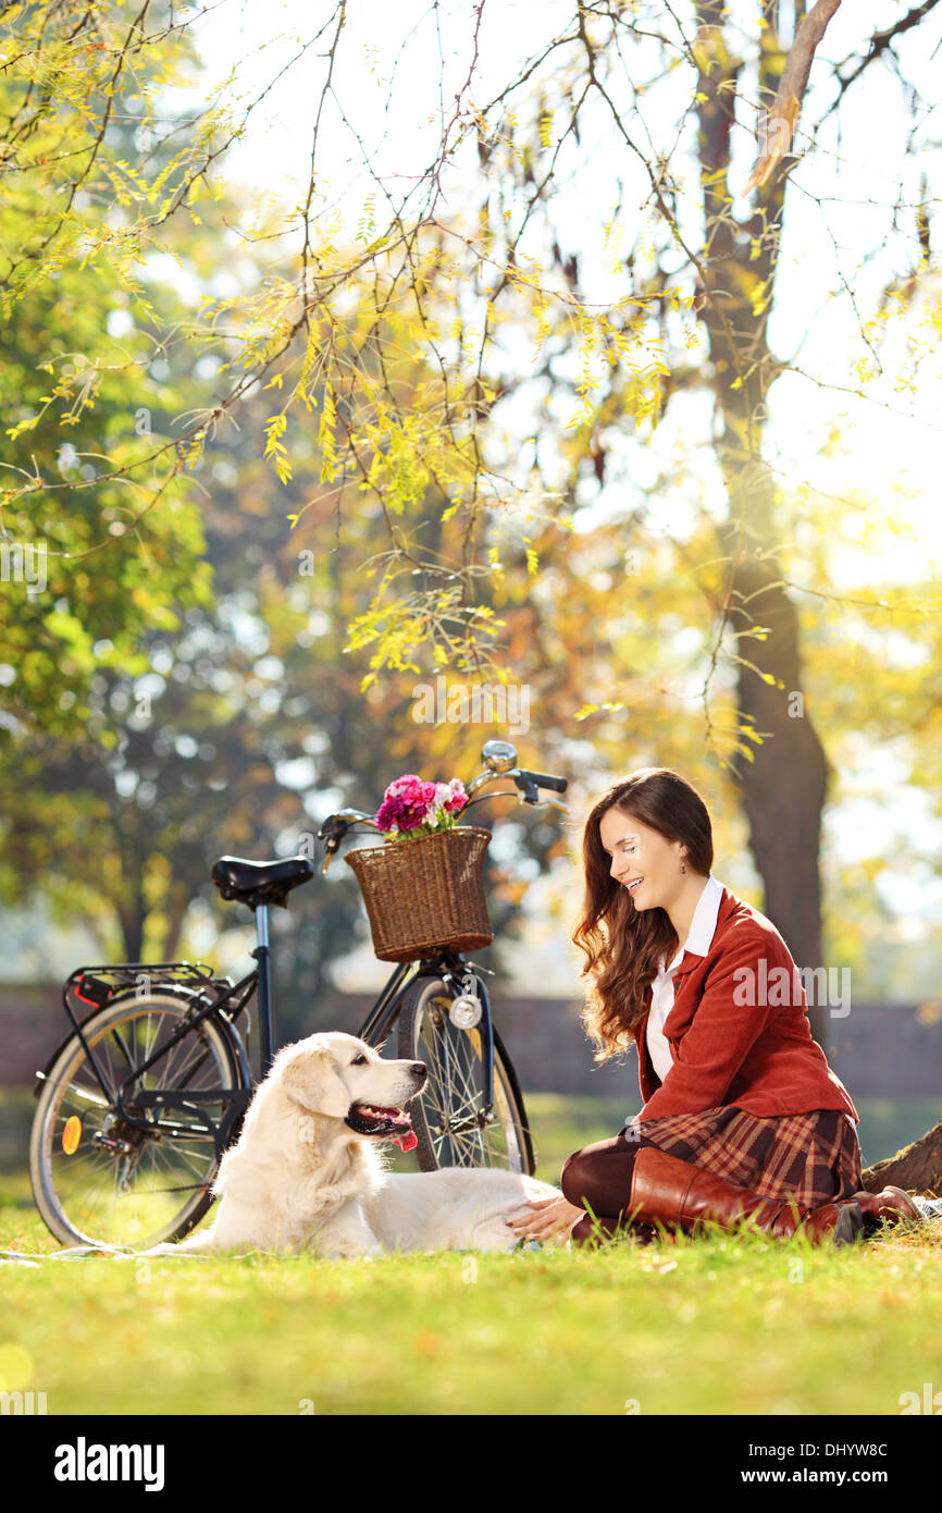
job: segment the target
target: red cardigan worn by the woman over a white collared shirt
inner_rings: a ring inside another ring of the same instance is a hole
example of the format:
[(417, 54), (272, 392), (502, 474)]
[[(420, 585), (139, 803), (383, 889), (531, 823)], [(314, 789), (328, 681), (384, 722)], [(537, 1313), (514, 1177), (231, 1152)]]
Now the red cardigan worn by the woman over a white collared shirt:
[[(785, 968), (776, 976), (776, 968)], [(750, 991), (751, 990), (751, 991)], [(748, 1000), (753, 1003), (736, 1002)], [(640, 1118), (696, 1114), (717, 1104), (759, 1117), (841, 1109), (859, 1114), (812, 1039), (801, 976), (779, 930), (723, 888), (706, 956), (685, 950), (664, 1021), (673, 1067), (664, 1082), (647, 1050), (647, 1012), (635, 1027)]]

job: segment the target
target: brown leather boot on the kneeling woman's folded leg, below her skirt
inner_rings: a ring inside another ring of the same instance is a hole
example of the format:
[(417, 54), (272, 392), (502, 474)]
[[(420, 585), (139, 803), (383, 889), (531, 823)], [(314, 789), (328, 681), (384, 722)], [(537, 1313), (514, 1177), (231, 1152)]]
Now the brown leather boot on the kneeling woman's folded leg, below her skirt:
[(747, 1218), (776, 1238), (794, 1235), (800, 1227), (815, 1245), (850, 1245), (863, 1230), (863, 1215), (854, 1198), (800, 1209), (794, 1201), (736, 1188), (655, 1145), (641, 1145), (635, 1154), (626, 1213), (632, 1223), (679, 1224), (685, 1233), (705, 1219), (732, 1229)]

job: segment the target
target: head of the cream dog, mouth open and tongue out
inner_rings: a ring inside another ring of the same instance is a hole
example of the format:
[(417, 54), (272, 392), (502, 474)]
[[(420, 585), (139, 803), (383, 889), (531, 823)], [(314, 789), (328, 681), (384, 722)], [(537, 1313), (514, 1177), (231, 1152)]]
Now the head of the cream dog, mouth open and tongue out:
[[(308, 1035), (277, 1059), (284, 1092), (308, 1114), (343, 1120), (355, 1135), (416, 1144), (402, 1108), (425, 1086), (420, 1061), (384, 1061), (355, 1035)], [(275, 1071), (275, 1067), (272, 1067)]]

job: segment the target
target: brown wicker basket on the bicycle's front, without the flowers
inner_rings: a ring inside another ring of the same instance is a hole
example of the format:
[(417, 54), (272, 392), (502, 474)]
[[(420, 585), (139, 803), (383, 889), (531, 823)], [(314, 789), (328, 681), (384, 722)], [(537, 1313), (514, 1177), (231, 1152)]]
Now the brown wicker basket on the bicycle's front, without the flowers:
[(488, 843), (490, 831), (460, 825), (346, 852), (380, 961), (419, 961), (435, 950), (490, 946), (494, 932), (484, 894)]

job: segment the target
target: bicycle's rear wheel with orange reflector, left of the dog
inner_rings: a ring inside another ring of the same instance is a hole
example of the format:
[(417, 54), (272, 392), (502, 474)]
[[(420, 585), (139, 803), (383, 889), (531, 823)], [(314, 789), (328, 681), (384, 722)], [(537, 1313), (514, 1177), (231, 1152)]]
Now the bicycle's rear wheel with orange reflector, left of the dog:
[[(210, 1207), (218, 1168), (213, 1129), (233, 1092), (246, 1086), (236, 1032), (209, 1015), (125, 1094), (129, 1114), (141, 1091), (200, 1094), (191, 1111), (172, 1109), (181, 1135), (136, 1130), (113, 1103), (135, 1065), (157, 1052), (192, 1008), (192, 997), (157, 990), (147, 999), (118, 999), (85, 1021), (109, 1098), (77, 1035), (50, 1068), (33, 1117), (29, 1173), (42, 1221), (64, 1244), (147, 1250), (181, 1239)], [(159, 1109), (139, 1112), (154, 1124), (160, 1117)]]

